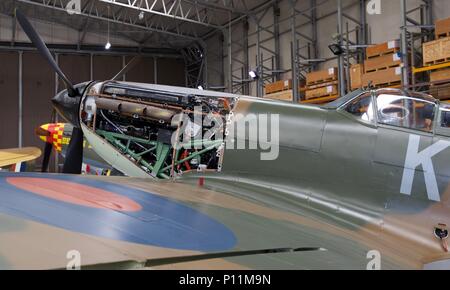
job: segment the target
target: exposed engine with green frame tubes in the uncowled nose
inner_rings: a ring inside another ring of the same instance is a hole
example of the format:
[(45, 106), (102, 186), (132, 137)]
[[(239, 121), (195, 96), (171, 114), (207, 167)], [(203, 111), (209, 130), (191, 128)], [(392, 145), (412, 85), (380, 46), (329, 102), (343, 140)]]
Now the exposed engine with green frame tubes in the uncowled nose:
[(227, 116), (235, 98), (168, 93), (130, 84), (94, 85), (81, 120), (157, 178), (220, 171)]

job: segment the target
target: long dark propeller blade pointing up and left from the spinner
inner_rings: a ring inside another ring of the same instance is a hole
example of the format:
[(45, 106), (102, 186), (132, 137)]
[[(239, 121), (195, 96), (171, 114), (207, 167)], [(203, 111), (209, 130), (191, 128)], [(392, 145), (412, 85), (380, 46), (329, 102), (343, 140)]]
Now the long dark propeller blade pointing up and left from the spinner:
[(78, 92), (74, 88), (72, 82), (66, 77), (66, 75), (63, 73), (63, 71), (56, 64), (55, 60), (53, 59), (52, 54), (50, 53), (50, 50), (45, 45), (44, 41), (39, 36), (39, 34), (36, 32), (36, 30), (33, 28), (31, 23), (28, 21), (26, 16), (23, 15), (22, 12), (20, 12), (20, 10), (18, 10), (18, 9), (15, 10), (15, 14), (16, 14), (17, 21), (19, 22), (20, 26), (22, 27), (23, 31), (26, 33), (28, 38), (36, 46), (39, 53), (47, 60), (47, 62), (50, 64), (50, 66), (55, 70), (55, 72), (63, 80), (63, 82), (66, 85), (66, 88), (68, 90), (69, 96), (70, 97), (78, 96)]

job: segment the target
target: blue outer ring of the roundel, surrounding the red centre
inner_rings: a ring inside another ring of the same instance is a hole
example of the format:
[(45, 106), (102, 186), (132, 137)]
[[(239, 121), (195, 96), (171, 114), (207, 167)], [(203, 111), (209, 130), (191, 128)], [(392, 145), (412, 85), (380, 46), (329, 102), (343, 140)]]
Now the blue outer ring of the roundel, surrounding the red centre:
[[(7, 178), (63, 180), (110, 192), (140, 205), (136, 211), (117, 211), (61, 201), (10, 184)], [(172, 199), (109, 182), (67, 175), (0, 175), (0, 213), (73, 232), (163, 248), (225, 251), (236, 245), (224, 224)]]

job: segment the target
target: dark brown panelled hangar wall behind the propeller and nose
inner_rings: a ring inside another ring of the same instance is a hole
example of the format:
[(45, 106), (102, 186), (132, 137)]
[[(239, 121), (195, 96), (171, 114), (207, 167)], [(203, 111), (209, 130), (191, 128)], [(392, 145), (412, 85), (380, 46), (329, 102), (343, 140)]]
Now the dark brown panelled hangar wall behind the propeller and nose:
[[(131, 57), (126, 57), (128, 62)], [(91, 80), (91, 56), (81, 54), (59, 54), (62, 70), (74, 83)], [(185, 69), (182, 59), (158, 58), (157, 83), (177, 86), (185, 85)], [(19, 145), (19, 52), (0, 52), (0, 148)], [(93, 56), (95, 80), (106, 80), (117, 74), (123, 65), (122, 56)], [(34, 130), (50, 121), (51, 98), (55, 95), (55, 73), (47, 62), (35, 52), (24, 52), (22, 56), (23, 118), (22, 145), (43, 148)], [(126, 75), (127, 81), (155, 82), (155, 66), (152, 57), (144, 58)], [(58, 90), (64, 86), (59, 81)], [(40, 160), (38, 161), (40, 163)], [(52, 161), (50, 164), (54, 164)], [(52, 166), (53, 167), (53, 166)], [(51, 169), (53, 169), (51, 167)]]

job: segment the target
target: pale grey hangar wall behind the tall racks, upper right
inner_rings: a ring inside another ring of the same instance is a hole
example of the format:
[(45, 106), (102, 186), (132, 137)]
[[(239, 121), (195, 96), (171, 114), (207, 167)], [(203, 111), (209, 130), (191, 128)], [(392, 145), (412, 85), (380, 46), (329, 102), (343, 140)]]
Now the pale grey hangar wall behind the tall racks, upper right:
[[(280, 68), (286, 70), (287, 72), (281, 75), (282, 79), (291, 78), (290, 68), (291, 68), (291, 31), (290, 31), (290, 21), (283, 19), (288, 18), (292, 9), (289, 3), (290, 0), (280, 0), (279, 8), (280, 8), (280, 24), (279, 24), (279, 33), (280, 33)], [(342, 0), (345, 14), (352, 16), (354, 18), (359, 18), (359, 4), (358, 0)], [(368, 1), (367, 1), (368, 2)], [(408, 9), (418, 7), (421, 4), (422, 0), (407, 0)], [(317, 9), (317, 17), (320, 19), (317, 23), (317, 31), (318, 31), (318, 57), (319, 58), (330, 58), (332, 57), (331, 51), (328, 49), (328, 45), (332, 43), (332, 36), (337, 32), (337, 1), (336, 0), (317, 0), (318, 9)], [(297, 1), (296, 9), (298, 11), (303, 11), (309, 8), (309, 1)], [(385, 42), (392, 39), (400, 38), (400, 26), (401, 26), (401, 17), (400, 17), (400, 0), (381, 0), (381, 15), (367, 15), (367, 23), (369, 26), (369, 43), (380, 43)], [(262, 27), (269, 27), (274, 23), (273, 17), (273, 8), (269, 9), (265, 16), (263, 16), (260, 20), (260, 25)], [(331, 15), (329, 15), (331, 14)], [(434, 0), (434, 20), (446, 18), (450, 15), (450, 1), (448, 0)], [(413, 15), (413, 17), (418, 17), (418, 15)], [(344, 19), (344, 22), (345, 19)], [(256, 67), (256, 28), (255, 19), (249, 19), (248, 21), (248, 62), (249, 68), (254, 69)], [(301, 23), (308, 23), (308, 20), (305, 17), (297, 17), (297, 25)], [(345, 25), (345, 23), (344, 23)], [(349, 21), (349, 27), (352, 29), (355, 25)], [(245, 35), (245, 28), (241, 22), (236, 23), (231, 28), (231, 37), (232, 43), (236, 42), (239, 39), (242, 39), (242, 35)], [(311, 25), (304, 25), (297, 30), (299, 33), (303, 33), (306, 35), (311, 35)], [(223, 41), (223, 64), (224, 64), (224, 83), (227, 86), (229, 84), (228, 79), (230, 73), (228, 72), (228, 63), (230, 58), (228, 58), (229, 49), (227, 47), (227, 36), (229, 35), (228, 29), (224, 32), (224, 41)], [(275, 41), (271, 34), (268, 31), (262, 31), (260, 34), (261, 43), (273, 50), (275, 48)], [(300, 38), (301, 39), (301, 38)], [(214, 42), (217, 41), (216, 38), (211, 37), (207, 39), (208, 45), (214, 45)], [(302, 47), (300, 42), (299, 46)], [(244, 50), (240, 50), (237, 44), (232, 45), (232, 66), (234, 68), (239, 68), (242, 66), (242, 57), (245, 54)], [(263, 54), (269, 56), (270, 53), (263, 50)], [(319, 65), (320, 68), (328, 68), (337, 65), (336, 60), (330, 60)], [(237, 74), (239, 72), (233, 71), (233, 74)], [(210, 82), (211, 83), (211, 82)], [(250, 83), (250, 92), (251, 95), (256, 95), (256, 83)]]

